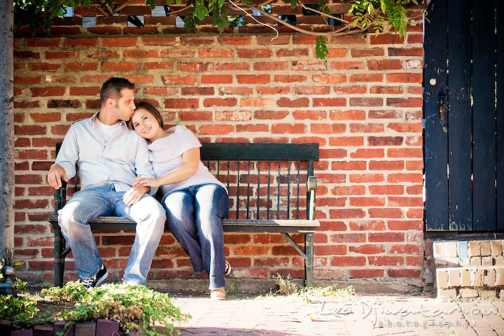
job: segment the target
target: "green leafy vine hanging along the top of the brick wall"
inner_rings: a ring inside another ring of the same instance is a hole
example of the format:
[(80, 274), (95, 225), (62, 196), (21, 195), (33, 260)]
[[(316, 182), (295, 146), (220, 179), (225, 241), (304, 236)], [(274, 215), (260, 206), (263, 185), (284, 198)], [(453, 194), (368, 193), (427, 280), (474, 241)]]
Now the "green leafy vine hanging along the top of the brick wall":
[[(94, 6), (98, 8), (103, 15), (110, 16), (118, 13), (122, 8), (127, 6), (129, 1), (116, 0), (14, 0), (14, 19), (17, 27), (28, 26), (32, 34), (36, 34), (36, 29), (50, 29), (52, 27), (52, 18), (62, 17), (68, 7), (85, 6), (90, 8)], [(217, 27), (218, 31), (223, 32), (229, 25), (230, 19), (228, 17), (228, 8), (237, 8), (250, 15), (251, 10), (256, 10), (265, 17), (270, 18), (276, 22), (286, 25), (295, 31), (304, 34), (317, 36), (316, 38), (316, 56), (323, 59), (328, 55), (327, 48), (325, 47), (325, 38), (332, 35), (344, 34), (358, 34), (367, 29), (374, 27), (374, 33), (380, 34), (384, 31), (384, 26), (388, 23), (391, 25), (399, 36), (406, 35), (406, 25), (409, 18), (406, 14), (405, 6), (413, 3), (419, 6), (419, 0), (345, 0), (351, 3), (349, 9), (350, 21), (342, 18), (337, 18), (331, 15), (328, 1), (318, 0), (318, 10), (307, 8), (301, 0), (290, 0), (290, 6), (295, 8), (301, 6), (305, 10), (322, 15), (326, 20), (332, 18), (342, 22), (343, 27), (334, 29), (323, 33), (316, 33), (311, 29), (303, 29), (295, 25), (290, 25), (283, 19), (268, 13), (263, 6), (255, 6), (253, 0), (187, 0), (186, 8), (184, 10), (184, 27), (188, 31), (200, 25), (204, 18), (210, 17), (212, 25)], [(172, 4), (179, 4), (181, 0), (166, 0), (167, 6)], [(146, 0), (146, 6), (155, 8), (155, 0)], [(248, 10), (248, 11), (247, 11)], [(176, 13), (176, 12), (174, 12)], [(172, 15), (168, 13), (168, 15)], [(261, 25), (276, 29), (270, 25), (255, 21)], [(232, 25), (237, 25), (235, 19), (231, 20)], [(278, 31), (276, 31), (278, 33)]]

